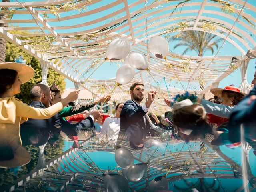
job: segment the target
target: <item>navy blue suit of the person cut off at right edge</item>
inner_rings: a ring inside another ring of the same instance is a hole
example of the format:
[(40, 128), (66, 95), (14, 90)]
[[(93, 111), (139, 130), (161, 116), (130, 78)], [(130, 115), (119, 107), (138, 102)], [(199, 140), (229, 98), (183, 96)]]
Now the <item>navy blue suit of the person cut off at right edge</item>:
[(256, 95), (256, 86), (243, 98), (230, 116), (228, 125), (231, 142), (240, 141), (240, 124), (244, 124), (244, 139), (256, 150), (256, 100), (248, 104), (250, 96)]

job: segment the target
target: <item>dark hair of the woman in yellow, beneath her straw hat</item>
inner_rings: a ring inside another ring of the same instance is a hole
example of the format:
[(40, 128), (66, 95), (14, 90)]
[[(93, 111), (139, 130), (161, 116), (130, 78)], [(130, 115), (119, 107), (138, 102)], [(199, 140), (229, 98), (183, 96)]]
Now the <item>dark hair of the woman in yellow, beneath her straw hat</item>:
[(12, 69), (0, 69), (0, 96), (2, 96), (16, 81), (18, 72)]

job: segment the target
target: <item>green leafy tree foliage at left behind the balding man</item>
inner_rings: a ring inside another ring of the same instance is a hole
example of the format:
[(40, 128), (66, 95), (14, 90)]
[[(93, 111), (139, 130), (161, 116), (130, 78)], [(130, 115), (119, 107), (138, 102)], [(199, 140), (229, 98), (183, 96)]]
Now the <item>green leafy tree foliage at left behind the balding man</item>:
[[(12, 43), (7, 42), (6, 46), (6, 62), (13, 62), (15, 57), (18, 57), (22, 55), (23, 59), (26, 60), (26, 64), (34, 68), (35, 74), (33, 78), (29, 81), (26, 82), (25, 84), (22, 84), (20, 87), (21, 93), (17, 94), (16, 97), (22, 102), (25, 103), (30, 103), (30, 97), (29, 97), (29, 92), (31, 87), (34, 84), (40, 83), (42, 81), (42, 70), (40, 66), (40, 61), (33, 56), (30, 56), (27, 54), (25, 51), (21, 50), (19, 47), (14, 46)], [(64, 76), (58, 74), (52, 69), (48, 70), (48, 76), (47, 76), (47, 83), (50, 85), (52, 82), (55, 82), (59, 88), (64, 90), (66, 86), (66, 82), (64, 80)]]

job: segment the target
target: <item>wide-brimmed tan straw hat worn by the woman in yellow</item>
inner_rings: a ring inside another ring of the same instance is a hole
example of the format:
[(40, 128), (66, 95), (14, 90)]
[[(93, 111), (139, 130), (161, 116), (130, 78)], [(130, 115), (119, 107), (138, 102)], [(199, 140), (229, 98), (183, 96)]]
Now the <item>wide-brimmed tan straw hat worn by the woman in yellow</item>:
[(0, 69), (12, 69), (18, 72), (20, 81), (23, 83), (28, 82), (34, 75), (34, 69), (26, 64), (6, 62), (0, 63)]

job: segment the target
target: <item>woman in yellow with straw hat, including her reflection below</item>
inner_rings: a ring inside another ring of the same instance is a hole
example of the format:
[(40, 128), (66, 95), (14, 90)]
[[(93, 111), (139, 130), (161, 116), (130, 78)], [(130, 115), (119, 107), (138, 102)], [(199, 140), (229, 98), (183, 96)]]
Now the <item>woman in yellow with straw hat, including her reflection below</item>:
[(29, 81), (34, 69), (26, 64), (7, 62), (0, 64), (0, 167), (16, 167), (30, 162), (30, 154), (22, 148), (20, 123), (34, 119), (48, 119), (63, 106), (78, 97), (74, 91), (68, 97), (49, 108), (27, 106), (14, 95), (20, 93), (20, 85)]

